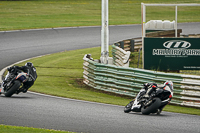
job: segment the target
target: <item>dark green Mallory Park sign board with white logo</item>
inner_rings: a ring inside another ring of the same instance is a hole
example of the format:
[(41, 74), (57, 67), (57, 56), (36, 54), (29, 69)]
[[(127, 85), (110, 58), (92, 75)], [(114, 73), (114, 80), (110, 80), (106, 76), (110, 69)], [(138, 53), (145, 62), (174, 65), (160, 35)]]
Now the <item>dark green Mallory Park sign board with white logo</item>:
[(200, 38), (144, 38), (144, 69), (200, 70)]

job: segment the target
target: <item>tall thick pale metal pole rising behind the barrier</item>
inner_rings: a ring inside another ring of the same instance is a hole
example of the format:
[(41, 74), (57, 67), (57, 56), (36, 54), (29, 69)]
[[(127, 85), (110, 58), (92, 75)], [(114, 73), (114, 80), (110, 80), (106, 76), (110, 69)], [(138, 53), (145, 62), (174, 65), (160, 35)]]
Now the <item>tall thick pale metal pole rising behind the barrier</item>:
[(109, 31), (108, 31), (108, 0), (102, 0), (101, 25), (101, 63), (108, 64)]

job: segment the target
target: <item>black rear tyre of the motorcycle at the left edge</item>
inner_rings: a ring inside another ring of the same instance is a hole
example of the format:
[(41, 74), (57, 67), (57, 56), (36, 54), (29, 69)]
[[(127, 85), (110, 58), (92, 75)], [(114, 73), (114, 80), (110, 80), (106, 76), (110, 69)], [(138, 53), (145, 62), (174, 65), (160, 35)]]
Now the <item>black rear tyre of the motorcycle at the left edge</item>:
[(18, 80), (15, 80), (13, 85), (8, 89), (6, 90), (5, 92), (5, 96), (6, 97), (11, 97), (16, 91), (17, 89), (21, 86), (21, 82), (18, 81)]

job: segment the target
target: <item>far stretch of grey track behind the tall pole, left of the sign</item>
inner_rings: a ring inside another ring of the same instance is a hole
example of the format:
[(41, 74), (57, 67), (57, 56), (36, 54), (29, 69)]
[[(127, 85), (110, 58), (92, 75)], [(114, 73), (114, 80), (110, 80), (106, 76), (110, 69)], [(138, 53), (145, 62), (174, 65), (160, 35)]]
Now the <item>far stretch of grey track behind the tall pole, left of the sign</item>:
[[(0, 69), (44, 54), (101, 46), (100, 27), (0, 32)], [(140, 25), (110, 26), (110, 44), (141, 37)]]

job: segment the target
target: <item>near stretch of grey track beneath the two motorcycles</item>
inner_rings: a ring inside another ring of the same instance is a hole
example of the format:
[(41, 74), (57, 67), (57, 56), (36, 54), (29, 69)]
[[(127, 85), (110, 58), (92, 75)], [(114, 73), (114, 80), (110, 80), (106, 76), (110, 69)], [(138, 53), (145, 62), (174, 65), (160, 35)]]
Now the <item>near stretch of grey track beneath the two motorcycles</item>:
[(85, 133), (199, 133), (200, 116), (162, 112), (141, 115), (122, 106), (34, 93), (0, 97), (1, 124)]

